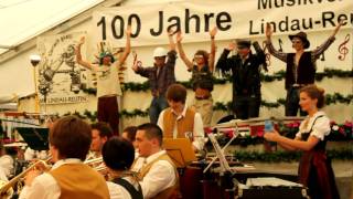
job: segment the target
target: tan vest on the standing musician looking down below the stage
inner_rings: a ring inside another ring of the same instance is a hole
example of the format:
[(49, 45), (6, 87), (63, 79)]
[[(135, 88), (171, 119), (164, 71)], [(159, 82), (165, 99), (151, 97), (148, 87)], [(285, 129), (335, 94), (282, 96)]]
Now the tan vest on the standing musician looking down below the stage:
[(194, 130), (195, 112), (186, 108), (186, 114), (181, 119), (176, 121), (176, 115), (173, 114), (172, 108), (167, 108), (163, 114), (163, 137), (173, 138), (173, 129), (176, 124), (176, 138), (184, 138), (185, 132)]

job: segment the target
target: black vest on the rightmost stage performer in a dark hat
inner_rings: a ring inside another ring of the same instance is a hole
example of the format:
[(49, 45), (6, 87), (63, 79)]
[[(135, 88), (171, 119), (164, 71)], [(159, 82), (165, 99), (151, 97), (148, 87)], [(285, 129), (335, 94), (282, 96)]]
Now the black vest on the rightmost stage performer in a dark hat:
[(287, 54), (287, 70), (286, 70), (286, 88), (293, 84), (313, 84), (315, 77), (315, 61), (311, 59), (311, 52), (304, 52), (300, 56), (297, 71), (297, 82), (295, 80), (296, 53)]

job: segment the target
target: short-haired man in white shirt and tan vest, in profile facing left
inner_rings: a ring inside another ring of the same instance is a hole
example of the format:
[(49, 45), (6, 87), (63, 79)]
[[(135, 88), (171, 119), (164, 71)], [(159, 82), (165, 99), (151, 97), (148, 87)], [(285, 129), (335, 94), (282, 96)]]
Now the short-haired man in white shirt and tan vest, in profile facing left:
[(176, 168), (162, 149), (163, 133), (156, 124), (138, 126), (136, 142), (139, 157), (131, 170), (139, 172), (143, 198), (170, 198), (176, 195)]

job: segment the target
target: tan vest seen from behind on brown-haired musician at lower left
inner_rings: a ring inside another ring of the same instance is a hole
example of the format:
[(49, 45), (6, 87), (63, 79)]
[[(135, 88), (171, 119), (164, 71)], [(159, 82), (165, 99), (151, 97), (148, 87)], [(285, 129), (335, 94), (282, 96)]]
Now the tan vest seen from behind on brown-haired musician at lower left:
[(51, 170), (61, 188), (61, 199), (109, 199), (107, 184), (101, 175), (84, 164), (66, 164)]

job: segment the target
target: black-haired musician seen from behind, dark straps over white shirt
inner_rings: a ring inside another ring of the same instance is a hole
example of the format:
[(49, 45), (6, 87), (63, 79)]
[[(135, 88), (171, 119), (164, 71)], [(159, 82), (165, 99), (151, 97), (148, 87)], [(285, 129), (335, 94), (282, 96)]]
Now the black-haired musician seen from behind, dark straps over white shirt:
[(110, 199), (142, 199), (141, 186), (129, 171), (135, 159), (132, 144), (125, 138), (114, 137), (103, 146), (101, 156), (111, 178), (107, 182)]

